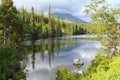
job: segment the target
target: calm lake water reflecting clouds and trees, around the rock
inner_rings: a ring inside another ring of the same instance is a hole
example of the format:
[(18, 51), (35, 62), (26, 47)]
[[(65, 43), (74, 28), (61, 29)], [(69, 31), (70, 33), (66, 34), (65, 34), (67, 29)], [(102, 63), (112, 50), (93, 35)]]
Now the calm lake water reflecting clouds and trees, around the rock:
[(27, 80), (54, 80), (56, 71), (66, 67), (74, 71), (73, 60), (79, 58), (84, 62), (81, 68), (90, 64), (101, 44), (88, 38), (95, 36), (68, 36), (54, 39), (24, 41), (28, 49), (25, 72)]

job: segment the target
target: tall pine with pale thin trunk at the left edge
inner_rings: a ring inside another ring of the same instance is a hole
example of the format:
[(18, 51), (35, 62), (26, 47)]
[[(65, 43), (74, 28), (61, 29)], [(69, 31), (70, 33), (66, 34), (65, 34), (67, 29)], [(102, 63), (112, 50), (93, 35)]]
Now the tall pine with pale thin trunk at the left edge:
[(3, 44), (6, 45), (8, 40), (9, 28), (15, 21), (17, 14), (16, 8), (13, 6), (12, 0), (2, 0), (0, 5), (0, 22), (3, 24)]

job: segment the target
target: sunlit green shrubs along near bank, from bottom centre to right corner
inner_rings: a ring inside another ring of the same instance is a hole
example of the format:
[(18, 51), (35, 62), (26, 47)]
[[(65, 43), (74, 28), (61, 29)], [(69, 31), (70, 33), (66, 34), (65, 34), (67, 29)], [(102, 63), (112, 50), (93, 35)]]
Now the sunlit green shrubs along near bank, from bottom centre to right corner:
[(56, 73), (56, 80), (119, 80), (120, 55), (102, 57), (97, 55), (86, 68), (85, 76), (75, 74), (67, 69), (60, 69)]

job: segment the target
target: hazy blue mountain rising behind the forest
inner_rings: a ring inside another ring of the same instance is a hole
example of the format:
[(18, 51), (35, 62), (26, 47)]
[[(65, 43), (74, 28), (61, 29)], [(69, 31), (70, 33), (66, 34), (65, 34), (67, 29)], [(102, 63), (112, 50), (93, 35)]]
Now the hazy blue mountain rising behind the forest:
[(70, 22), (87, 23), (86, 21), (79, 19), (71, 14), (52, 13), (52, 16), (55, 18), (59, 17), (61, 20), (66, 20)]

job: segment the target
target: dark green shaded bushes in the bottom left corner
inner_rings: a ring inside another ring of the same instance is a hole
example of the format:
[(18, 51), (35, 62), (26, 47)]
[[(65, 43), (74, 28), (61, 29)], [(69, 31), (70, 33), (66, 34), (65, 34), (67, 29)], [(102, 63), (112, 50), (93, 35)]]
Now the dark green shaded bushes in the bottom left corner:
[(25, 74), (20, 68), (23, 54), (11, 46), (0, 46), (0, 80), (25, 79)]

